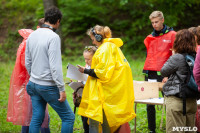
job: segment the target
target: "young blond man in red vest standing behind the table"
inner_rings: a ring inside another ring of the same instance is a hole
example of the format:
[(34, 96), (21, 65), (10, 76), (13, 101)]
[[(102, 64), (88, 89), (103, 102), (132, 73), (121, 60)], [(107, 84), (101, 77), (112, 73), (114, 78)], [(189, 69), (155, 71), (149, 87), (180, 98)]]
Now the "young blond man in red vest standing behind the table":
[[(153, 32), (148, 35), (144, 44), (147, 49), (146, 60), (143, 73), (145, 81), (166, 82), (160, 74), (160, 70), (167, 59), (172, 55), (172, 47), (176, 32), (173, 28), (164, 24), (164, 16), (161, 11), (153, 11), (149, 19), (151, 21)], [(148, 128), (150, 133), (155, 133), (156, 129), (156, 111), (155, 105), (147, 104)]]

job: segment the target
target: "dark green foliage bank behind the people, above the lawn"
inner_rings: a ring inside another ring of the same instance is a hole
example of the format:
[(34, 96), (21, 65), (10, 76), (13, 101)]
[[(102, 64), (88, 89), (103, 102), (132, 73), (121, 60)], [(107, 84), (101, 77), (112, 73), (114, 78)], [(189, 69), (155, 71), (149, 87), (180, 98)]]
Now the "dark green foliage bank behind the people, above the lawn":
[[(8, 46), (2, 46), (0, 51), (14, 54), (20, 42), (16, 41), (19, 36), (11, 35), (12, 32), (21, 28), (35, 29), (37, 20), (44, 15), (43, 3), (41, 0), (2, 0), (0, 3), (3, 16), (0, 24), (9, 24), (3, 45), (12, 46), (8, 52)], [(91, 44), (86, 31), (96, 24), (109, 26), (113, 37), (123, 39), (125, 55), (138, 55), (145, 52), (143, 40), (152, 32), (149, 20), (152, 11), (161, 10), (165, 23), (175, 31), (198, 26), (200, 20), (198, 0), (59, 0), (58, 7), (63, 13), (61, 31), (65, 56), (82, 55), (83, 47)]]

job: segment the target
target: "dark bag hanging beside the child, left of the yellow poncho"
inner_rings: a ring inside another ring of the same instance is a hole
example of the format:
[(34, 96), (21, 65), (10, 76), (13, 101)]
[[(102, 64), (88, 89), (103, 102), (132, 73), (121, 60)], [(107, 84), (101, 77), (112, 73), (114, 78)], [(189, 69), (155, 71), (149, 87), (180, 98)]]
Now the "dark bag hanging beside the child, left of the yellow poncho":
[(78, 92), (82, 92), (82, 91), (83, 91), (83, 87), (81, 86), (81, 87), (78, 87), (76, 91), (74, 91), (73, 93), (74, 114), (76, 113), (76, 107), (79, 107), (81, 103), (81, 98), (82, 98), (82, 96)]

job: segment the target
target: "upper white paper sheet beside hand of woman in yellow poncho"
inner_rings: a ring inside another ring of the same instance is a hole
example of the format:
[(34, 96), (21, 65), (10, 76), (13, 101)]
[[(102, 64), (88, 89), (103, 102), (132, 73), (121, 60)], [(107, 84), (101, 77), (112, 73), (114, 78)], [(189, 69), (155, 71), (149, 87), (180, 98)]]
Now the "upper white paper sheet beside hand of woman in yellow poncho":
[(88, 78), (87, 74), (81, 73), (78, 68), (72, 64), (68, 64), (67, 67), (67, 75), (66, 77), (70, 79), (80, 80), (80, 81), (86, 81)]

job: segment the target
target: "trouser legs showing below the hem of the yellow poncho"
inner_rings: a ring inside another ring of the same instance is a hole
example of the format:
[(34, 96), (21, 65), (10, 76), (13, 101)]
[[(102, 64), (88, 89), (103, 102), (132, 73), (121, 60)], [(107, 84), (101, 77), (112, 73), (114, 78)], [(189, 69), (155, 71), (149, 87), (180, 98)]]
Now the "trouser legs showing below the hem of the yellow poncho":
[[(99, 122), (93, 119), (89, 119), (89, 132), (90, 133), (99, 133)], [(108, 121), (106, 119), (106, 115), (103, 111), (103, 124), (102, 124), (103, 133), (111, 133), (110, 127), (108, 125)]]

